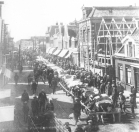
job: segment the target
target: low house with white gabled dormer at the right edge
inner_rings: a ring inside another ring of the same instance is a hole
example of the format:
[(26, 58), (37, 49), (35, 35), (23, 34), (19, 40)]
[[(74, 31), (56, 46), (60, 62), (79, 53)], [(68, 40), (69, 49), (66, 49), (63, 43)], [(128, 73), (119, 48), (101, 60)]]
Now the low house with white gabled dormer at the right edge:
[(114, 55), (116, 80), (130, 91), (134, 85), (139, 91), (139, 29), (122, 40), (122, 47)]

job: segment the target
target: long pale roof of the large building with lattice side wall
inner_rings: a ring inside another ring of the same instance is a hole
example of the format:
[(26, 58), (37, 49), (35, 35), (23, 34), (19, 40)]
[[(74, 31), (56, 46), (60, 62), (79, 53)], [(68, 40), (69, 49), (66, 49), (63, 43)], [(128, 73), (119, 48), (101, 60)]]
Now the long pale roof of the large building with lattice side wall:
[(92, 7), (88, 17), (104, 16), (139, 16), (139, 7), (119, 6), (119, 7)]

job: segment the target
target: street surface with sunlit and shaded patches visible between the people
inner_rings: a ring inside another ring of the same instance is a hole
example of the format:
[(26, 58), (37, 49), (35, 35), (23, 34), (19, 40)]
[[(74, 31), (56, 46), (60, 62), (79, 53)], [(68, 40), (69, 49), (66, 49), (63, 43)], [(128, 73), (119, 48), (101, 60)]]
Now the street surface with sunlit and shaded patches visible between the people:
[[(39, 57), (42, 59), (42, 57)], [(42, 60), (41, 60), (42, 61)], [(43, 60), (44, 61), (44, 60)], [(52, 64), (48, 64), (54, 67)], [(59, 68), (60, 69), (60, 68)], [(27, 131), (28, 128), (28, 123), (24, 121), (23, 118), (23, 103), (21, 100), (23, 92), (26, 90), (26, 92), (29, 95), (29, 101), (28, 101), (28, 106), (29, 106), (29, 115), (32, 116), (32, 107), (31, 107), (31, 102), (34, 98), (34, 96), (38, 97), (39, 93), (44, 90), (46, 93), (46, 96), (49, 100), (52, 100), (54, 104), (54, 110), (53, 112), (55, 113), (55, 116), (57, 120), (60, 121), (61, 125), (64, 126), (66, 122), (69, 123), (69, 126), (71, 127), (72, 131), (76, 129), (75, 125), (75, 120), (73, 117), (73, 98), (71, 96), (67, 96), (65, 90), (62, 87), (58, 87), (56, 89), (56, 92), (53, 94), (52, 88), (49, 87), (48, 81), (42, 82), (41, 80), (38, 81), (38, 87), (36, 90), (36, 93), (33, 94), (31, 85), (28, 85), (28, 75), (33, 72), (32, 68), (29, 68), (28, 66), (23, 66), (23, 71), (20, 74), (18, 70), (14, 70), (14, 73), (19, 75), (18, 83), (17, 85), (15, 84), (14, 80), (11, 80), (8, 85), (6, 86), (7, 90), (11, 90), (11, 97), (6, 97), (6, 98), (1, 98), (1, 106), (3, 105), (14, 105), (15, 106), (15, 120), (13, 123), (12, 131)], [(47, 103), (46, 103), (47, 104)], [(46, 105), (45, 104), (45, 105)], [(105, 122), (105, 125), (100, 124), (98, 126), (97, 131), (138, 131), (138, 112), (139, 110), (135, 110), (136, 112), (136, 119), (132, 118), (132, 115), (130, 113), (130, 109), (127, 110), (128, 113), (126, 115), (122, 115), (121, 117), (121, 122), (120, 123), (112, 123)], [(81, 117), (83, 118), (85, 114), (82, 112)], [(86, 121), (81, 120), (80, 124), (82, 126), (86, 126)], [(6, 129), (6, 128), (5, 128)], [(38, 129), (38, 128), (36, 128)], [(4, 130), (4, 129), (3, 129)], [(7, 129), (6, 129), (7, 130)]]

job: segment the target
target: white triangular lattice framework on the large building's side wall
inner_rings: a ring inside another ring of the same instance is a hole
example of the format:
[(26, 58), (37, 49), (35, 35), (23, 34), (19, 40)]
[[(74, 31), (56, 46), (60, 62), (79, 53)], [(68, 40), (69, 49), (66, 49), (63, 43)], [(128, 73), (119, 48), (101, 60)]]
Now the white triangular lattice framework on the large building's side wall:
[[(112, 65), (112, 56), (122, 46), (122, 39), (136, 29), (135, 18), (102, 18), (97, 35), (98, 57)], [(101, 57), (102, 58), (101, 58)], [(106, 61), (106, 57), (109, 61)]]

